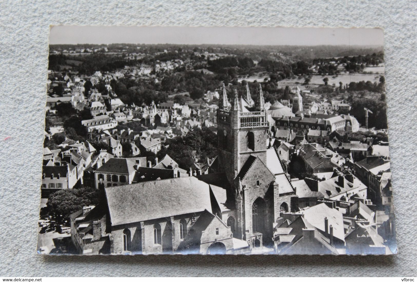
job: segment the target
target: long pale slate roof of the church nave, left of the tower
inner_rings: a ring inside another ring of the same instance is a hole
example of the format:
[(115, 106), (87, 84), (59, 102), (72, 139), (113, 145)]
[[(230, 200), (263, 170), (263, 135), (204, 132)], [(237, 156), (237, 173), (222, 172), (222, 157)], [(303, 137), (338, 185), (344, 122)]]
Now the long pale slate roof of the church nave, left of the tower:
[(107, 187), (105, 191), (113, 226), (212, 211), (209, 185), (195, 177)]

